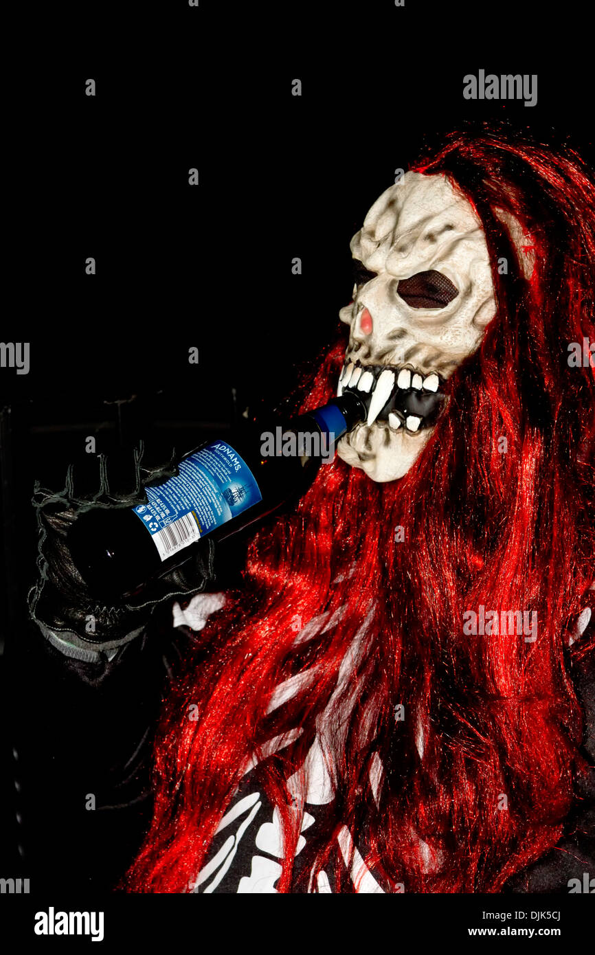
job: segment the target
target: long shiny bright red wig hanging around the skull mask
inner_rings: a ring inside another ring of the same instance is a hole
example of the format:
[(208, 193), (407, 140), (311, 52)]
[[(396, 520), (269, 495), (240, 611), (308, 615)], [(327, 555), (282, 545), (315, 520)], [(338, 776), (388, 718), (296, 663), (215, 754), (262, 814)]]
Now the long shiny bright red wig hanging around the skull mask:
[[(330, 866), (337, 891), (353, 891), (337, 853), (344, 825), (356, 840), (365, 826), (366, 862), (407, 892), (498, 892), (563, 835), (585, 771), (572, 672), (593, 648), (571, 633), (594, 576), (595, 371), (568, 356), (595, 338), (595, 185), (571, 151), (501, 132), (454, 134), (414, 169), (446, 174), (476, 209), (496, 317), (405, 477), (374, 483), (335, 458), (251, 541), (242, 590), (201, 631), (165, 703), (131, 891), (187, 892), (246, 766), (295, 728), (256, 770), (282, 818), (280, 892), (308, 890), (294, 877), (304, 806), (286, 780), (316, 733), (336, 797), (315, 872)], [(294, 409), (334, 395), (345, 349), (342, 335)], [(537, 640), (465, 636), (478, 605), (537, 612)], [(312, 622), (299, 645), (296, 615)], [(269, 712), (297, 673), (301, 689)]]

